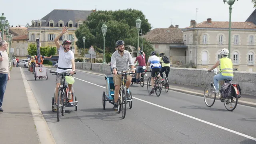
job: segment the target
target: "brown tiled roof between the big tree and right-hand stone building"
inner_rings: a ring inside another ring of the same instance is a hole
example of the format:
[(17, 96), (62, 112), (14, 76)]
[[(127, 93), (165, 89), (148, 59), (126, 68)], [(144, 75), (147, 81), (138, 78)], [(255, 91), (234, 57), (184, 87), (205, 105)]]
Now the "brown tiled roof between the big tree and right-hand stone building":
[(144, 35), (144, 38), (153, 44), (183, 43), (183, 34), (180, 28), (155, 28)]

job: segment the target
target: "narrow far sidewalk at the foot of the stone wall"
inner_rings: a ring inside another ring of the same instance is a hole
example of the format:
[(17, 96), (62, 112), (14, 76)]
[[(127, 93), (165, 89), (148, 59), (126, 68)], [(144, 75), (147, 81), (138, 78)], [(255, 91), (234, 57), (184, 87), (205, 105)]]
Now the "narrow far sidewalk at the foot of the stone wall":
[[(76, 71), (104, 76), (104, 73), (96, 72), (96, 71), (92, 71), (92, 70), (76, 69)], [(169, 89), (173, 90), (173, 91), (177, 91), (177, 92), (186, 93), (186, 94), (192, 94), (192, 95), (202, 96), (202, 97), (204, 96), (204, 88), (200, 88), (200, 87), (196, 87), (196, 86), (170, 83), (169, 84)], [(218, 100), (217, 97), (216, 97), (216, 100)], [(250, 95), (242, 94), (241, 98), (238, 99), (238, 104), (256, 107), (256, 96), (250, 96)]]

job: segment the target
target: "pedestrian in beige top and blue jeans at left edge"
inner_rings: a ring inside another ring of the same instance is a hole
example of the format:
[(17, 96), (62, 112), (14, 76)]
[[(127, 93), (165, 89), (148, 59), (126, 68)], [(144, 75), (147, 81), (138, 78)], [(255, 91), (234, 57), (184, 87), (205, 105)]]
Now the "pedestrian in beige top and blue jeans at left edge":
[(2, 103), (4, 100), (4, 92), (7, 81), (10, 80), (10, 65), (9, 57), (6, 52), (8, 43), (5, 40), (0, 40), (0, 112), (3, 112)]

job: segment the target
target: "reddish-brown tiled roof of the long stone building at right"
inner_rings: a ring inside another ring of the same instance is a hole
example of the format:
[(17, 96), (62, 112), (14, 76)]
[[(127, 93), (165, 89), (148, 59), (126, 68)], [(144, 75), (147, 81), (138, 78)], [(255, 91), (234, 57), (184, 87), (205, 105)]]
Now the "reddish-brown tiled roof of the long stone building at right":
[[(196, 28), (229, 28), (229, 22), (211, 22), (207, 21), (196, 24)], [(186, 27), (193, 28), (193, 26)], [(231, 22), (231, 28), (236, 29), (256, 29), (256, 25), (253, 22)]]

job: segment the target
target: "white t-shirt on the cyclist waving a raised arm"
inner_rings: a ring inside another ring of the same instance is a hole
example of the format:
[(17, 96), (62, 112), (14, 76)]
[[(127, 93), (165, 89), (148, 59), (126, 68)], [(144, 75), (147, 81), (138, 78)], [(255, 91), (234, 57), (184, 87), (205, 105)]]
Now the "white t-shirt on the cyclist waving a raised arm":
[(72, 50), (70, 50), (68, 52), (64, 52), (64, 48), (61, 45), (60, 45), (60, 49), (58, 51), (59, 51), (58, 67), (60, 67), (60, 68), (70, 68), (70, 69), (62, 70), (60, 68), (57, 68), (56, 72), (60, 73), (60, 72), (68, 72), (68, 71), (70, 72), (70, 71), (72, 71), (71, 60), (75, 58), (74, 52), (72, 52)]

